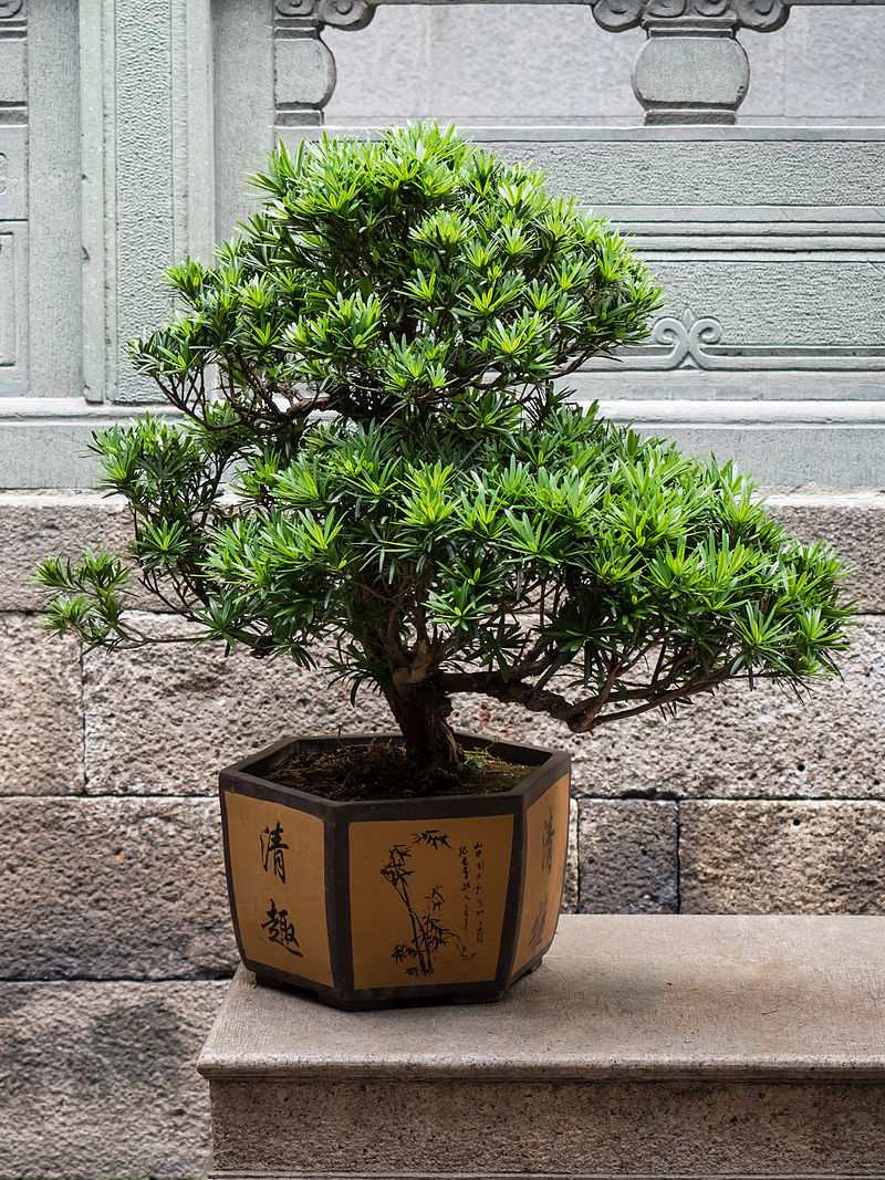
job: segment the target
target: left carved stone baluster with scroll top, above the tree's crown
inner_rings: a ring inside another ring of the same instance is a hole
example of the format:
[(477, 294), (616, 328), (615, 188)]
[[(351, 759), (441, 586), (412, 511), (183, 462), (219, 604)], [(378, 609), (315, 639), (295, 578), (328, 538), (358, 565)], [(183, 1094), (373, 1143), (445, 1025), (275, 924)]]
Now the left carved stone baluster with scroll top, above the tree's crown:
[(274, 11), (274, 97), (276, 122), (297, 126), (322, 123), (335, 90), (335, 59), (321, 38), (327, 25), (365, 28), (375, 14), (368, 0), (276, 0)]

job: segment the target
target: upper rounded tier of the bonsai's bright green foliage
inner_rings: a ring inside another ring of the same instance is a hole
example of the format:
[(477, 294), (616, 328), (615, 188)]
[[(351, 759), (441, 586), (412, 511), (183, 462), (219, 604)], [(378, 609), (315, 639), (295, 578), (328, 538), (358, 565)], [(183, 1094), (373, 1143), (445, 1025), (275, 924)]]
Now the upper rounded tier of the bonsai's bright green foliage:
[(131, 347), (198, 417), (209, 365), (253, 427), (526, 399), (642, 339), (658, 302), (622, 238), (453, 129), (281, 146), (254, 183), (261, 212), (217, 267), (169, 270), (186, 312)]

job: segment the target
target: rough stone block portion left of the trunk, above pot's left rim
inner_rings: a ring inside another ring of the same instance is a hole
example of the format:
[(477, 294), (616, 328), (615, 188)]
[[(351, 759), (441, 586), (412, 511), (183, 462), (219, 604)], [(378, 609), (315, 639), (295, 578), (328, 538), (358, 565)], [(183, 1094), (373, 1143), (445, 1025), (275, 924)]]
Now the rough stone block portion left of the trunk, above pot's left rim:
[[(145, 628), (183, 634), (172, 616)], [(224, 658), (221, 645), (182, 644), (84, 657), (87, 792), (209, 794), (222, 766), (288, 735), (389, 732), (386, 703), (366, 690), (358, 707), (324, 669), (284, 658)]]

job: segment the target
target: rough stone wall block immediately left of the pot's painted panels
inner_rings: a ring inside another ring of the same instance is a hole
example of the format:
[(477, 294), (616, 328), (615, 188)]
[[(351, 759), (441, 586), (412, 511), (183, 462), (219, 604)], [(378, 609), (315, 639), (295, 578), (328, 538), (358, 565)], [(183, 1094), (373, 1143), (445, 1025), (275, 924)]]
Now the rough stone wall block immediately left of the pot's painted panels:
[(232, 974), (215, 799), (0, 800), (0, 977)]

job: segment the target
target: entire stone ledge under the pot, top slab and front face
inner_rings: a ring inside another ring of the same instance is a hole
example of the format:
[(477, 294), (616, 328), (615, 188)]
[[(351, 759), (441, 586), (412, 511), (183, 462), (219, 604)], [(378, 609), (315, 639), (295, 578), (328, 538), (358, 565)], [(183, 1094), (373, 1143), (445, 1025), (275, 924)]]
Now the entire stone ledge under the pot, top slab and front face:
[(493, 1005), (241, 968), (198, 1068), (210, 1180), (885, 1176), (885, 918), (563, 916)]

